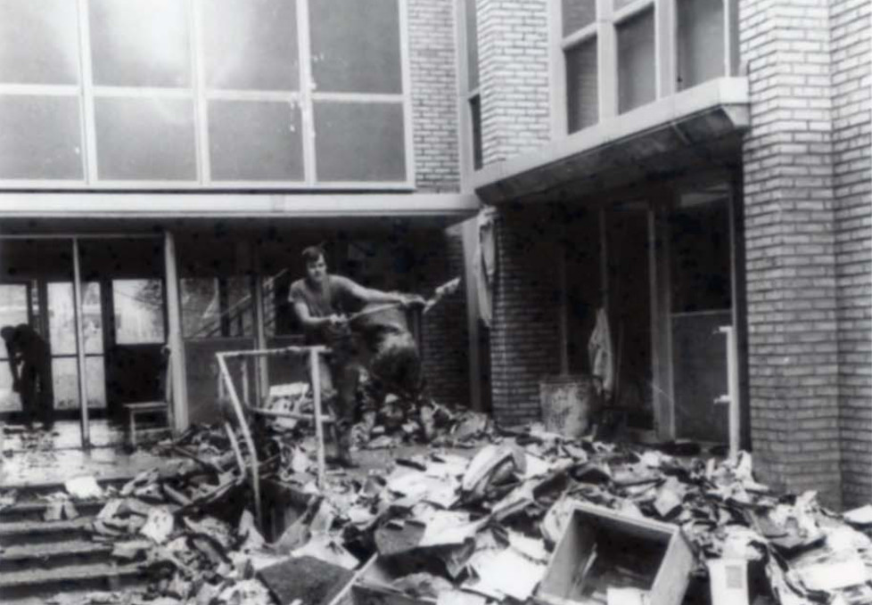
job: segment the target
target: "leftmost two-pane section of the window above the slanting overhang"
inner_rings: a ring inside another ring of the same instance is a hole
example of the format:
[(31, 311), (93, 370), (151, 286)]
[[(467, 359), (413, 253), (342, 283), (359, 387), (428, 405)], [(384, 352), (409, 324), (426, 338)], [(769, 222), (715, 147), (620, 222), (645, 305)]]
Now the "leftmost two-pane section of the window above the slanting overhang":
[(599, 121), (596, 0), (562, 0), (566, 128), (572, 134)]

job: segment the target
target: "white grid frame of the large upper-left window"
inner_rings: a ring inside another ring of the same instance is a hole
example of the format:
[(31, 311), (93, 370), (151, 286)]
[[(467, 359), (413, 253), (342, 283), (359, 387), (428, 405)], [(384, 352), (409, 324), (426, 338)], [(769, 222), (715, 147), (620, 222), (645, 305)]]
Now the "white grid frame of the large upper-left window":
[[(312, 90), (306, 83), (311, 78), (311, 47), (309, 38), (308, 5), (317, 0), (292, 0), (296, 8), (296, 27), (299, 67), (298, 91), (261, 91), (207, 88), (203, 27), (204, 6), (207, 0), (179, 0), (185, 3), (190, 54), (190, 87), (131, 87), (96, 86), (91, 54), (91, 31), (88, 20), (90, 0), (76, 0), (78, 15), (78, 85), (0, 84), (0, 95), (62, 95), (77, 97), (79, 103), (79, 132), (81, 142), (82, 179), (24, 178), (0, 179), (0, 188), (36, 189), (111, 189), (111, 190), (392, 190), (415, 189), (415, 147), (412, 115), (410, 45), (408, 39), (407, 0), (396, 0), (399, 12), (399, 55), (402, 92), (399, 94), (322, 93)], [(190, 180), (118, 180), (101, 179), (97, 164), (95, 99), (102, 97), (126, 99), (177, 98), (192, 102), (193, 149), (195, 178)], [(209, 102), (265, 101), (288, 102), (300, 107), (302, 137), (303, 178), (301, 180), (216, 180), (211, 176), (209, 148)], [(317, 180), (315, 156), (314, 103), (317, 101), (395, 103), (403, 110), (403, 149), (405, 153), (405, 179), (399, 181), (325, 181)]]

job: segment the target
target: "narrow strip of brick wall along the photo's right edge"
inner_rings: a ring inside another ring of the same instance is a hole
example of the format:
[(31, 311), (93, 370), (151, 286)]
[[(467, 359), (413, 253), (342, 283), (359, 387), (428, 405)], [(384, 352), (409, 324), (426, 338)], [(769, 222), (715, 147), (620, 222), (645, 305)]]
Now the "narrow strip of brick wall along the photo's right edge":
[(835, 254), (845, 506), (872, 498), (872, 141), (868, 0), (830, 6)]

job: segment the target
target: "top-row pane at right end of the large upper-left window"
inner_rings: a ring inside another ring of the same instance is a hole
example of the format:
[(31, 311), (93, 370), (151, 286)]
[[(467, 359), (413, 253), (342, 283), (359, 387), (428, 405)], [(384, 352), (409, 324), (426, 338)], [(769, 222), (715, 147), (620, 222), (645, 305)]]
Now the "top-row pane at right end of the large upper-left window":
[(309, 3), (317, 90), (402, 93), (398, 0)]

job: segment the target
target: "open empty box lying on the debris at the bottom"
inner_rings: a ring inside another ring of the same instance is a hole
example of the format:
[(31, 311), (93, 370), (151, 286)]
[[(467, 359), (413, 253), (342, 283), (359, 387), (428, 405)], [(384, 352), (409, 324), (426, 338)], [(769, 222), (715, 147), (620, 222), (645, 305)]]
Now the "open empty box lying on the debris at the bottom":
[(541, 605), (607, 603), (610, 587), (636, 588), (652, 605), (680, 605), (693, 566), (679, 527), (579, 503), (535, 599)]

